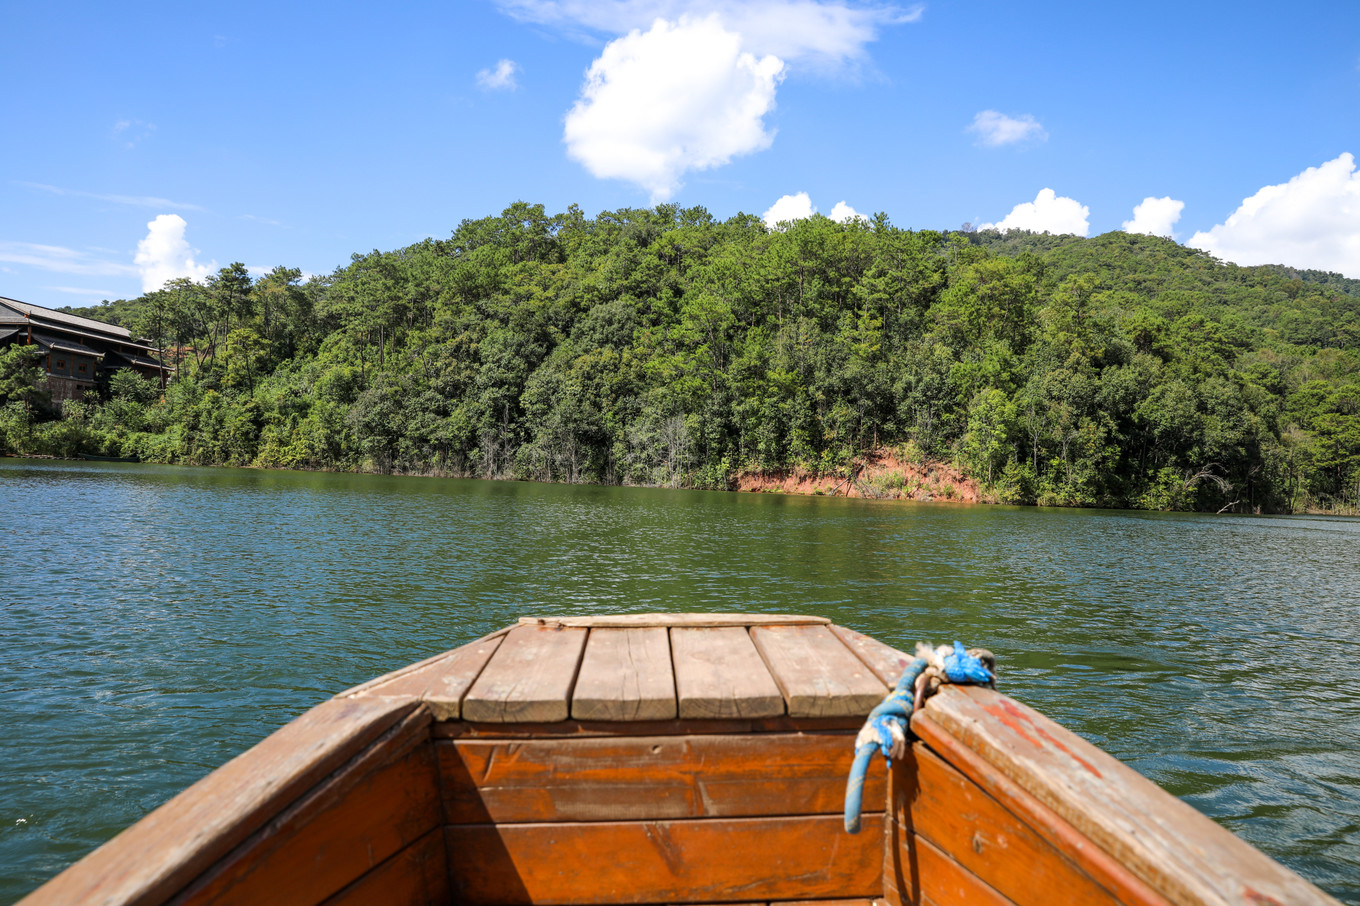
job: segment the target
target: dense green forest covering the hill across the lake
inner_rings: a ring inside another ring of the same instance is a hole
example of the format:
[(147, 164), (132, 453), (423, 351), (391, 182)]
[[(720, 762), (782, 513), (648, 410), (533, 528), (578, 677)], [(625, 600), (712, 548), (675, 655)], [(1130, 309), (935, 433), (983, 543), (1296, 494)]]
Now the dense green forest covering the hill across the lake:
[(726, 487), (949, 460), (991, 499), (1352, 511), (1360, 283), (1126, 233), (515, 204), (324, 278), (223, 268), (78, 314), (171, 351), (0, 449)]

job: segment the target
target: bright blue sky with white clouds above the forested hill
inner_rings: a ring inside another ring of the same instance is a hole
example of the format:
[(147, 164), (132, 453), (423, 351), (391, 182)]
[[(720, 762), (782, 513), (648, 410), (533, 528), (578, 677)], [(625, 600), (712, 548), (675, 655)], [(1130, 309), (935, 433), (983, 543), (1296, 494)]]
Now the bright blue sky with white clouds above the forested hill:
[(4, 0), (0, 23), (0, 295), (38, 305), (328, 273), (517, 200), (1130, 229), (1360, 278), (1353, 0)]

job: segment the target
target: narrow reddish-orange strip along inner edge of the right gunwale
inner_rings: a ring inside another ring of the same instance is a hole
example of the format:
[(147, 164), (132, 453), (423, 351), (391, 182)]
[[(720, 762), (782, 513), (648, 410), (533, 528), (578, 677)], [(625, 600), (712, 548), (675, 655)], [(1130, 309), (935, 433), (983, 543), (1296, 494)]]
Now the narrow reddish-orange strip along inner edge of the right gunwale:
[(1070, 822), (1023, 790), (994, 765), (956, 740), (936, 724), (929, 714), (918, 713), (911, 729), (932, 751), (960, 774), (976, 784), (1057, 852), (1074, 861), (1098, 884), (1111, 891), (1121, 903), (1130, 906), (1168, 906), (1171, 901), (1155, 891), (1145, 880), (1129, 871), (1110, 853), (1092, 843)]

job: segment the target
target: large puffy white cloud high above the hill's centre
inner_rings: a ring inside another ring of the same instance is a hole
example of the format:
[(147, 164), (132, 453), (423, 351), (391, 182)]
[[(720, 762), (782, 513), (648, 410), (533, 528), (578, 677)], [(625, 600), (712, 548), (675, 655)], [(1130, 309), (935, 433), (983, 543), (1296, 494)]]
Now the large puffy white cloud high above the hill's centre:
[(658, 19), (611, 41), (567, 113), (567, 154), (596, 177), (635, 182), (665, 201), (691, 170), (770, 147), (783, 61), (756, 58), (715, 16)]

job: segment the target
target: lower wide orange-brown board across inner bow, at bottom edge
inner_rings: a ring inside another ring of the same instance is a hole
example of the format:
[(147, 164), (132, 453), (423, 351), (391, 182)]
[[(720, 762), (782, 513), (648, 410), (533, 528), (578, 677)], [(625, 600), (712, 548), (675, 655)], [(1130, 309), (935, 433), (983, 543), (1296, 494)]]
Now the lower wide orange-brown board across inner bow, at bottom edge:
[(883, 815), (446, 828), (453, 895), (472, 905), (872, 898)]

